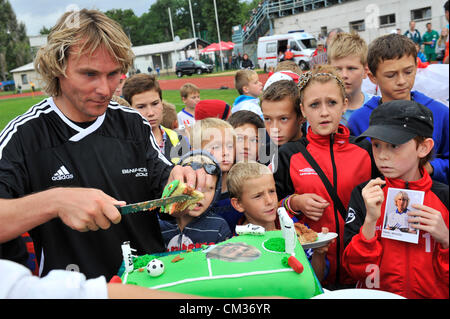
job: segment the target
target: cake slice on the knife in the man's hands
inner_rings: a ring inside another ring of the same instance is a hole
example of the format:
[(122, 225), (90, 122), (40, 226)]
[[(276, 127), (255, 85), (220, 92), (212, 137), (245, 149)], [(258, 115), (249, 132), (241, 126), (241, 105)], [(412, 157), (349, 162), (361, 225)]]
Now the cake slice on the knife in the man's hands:
[(174, 180), (164, 188), (162, 198), (168, 198), (178, 195), (189, 195), (192, 197), (192, 199), (184, 202), (177, 202), (162, 206), (161, 212), (172, 215), (176, 212), (182, 212), (186, 209), (193, 209), (195, 205), (204, 198), (202, 192), (199, 192), (195, 188), (190, 187), (179, 180)]

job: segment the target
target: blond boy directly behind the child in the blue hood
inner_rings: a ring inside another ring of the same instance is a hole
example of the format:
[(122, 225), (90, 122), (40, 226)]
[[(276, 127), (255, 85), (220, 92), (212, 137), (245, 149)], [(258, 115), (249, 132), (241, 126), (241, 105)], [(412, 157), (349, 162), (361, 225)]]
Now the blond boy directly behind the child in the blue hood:
[(214, 117), (196, 121), (190, 131), (190, 142), (193, 150), (207, 151), (219, 163), (222, 170), (222, 192), (215, 208), (217, 214), (222, 216), (233, 230), (240, 218), (239, 212), (231, 206), (227, 187), (228, 172), (235, 163), (236, 136), (233, 126)]

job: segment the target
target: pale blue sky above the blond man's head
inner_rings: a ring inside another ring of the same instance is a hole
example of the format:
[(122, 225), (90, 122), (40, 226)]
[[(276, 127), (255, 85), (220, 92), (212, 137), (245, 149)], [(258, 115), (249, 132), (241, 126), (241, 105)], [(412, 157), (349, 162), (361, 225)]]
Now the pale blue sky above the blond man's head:
[(24, 22), (28, 35), (38, 35), (43, 26), (52, 27), (67, 8), (133, 9), (137, 16), (146, 12), (156, 0), (9, 0), (17, 20)]

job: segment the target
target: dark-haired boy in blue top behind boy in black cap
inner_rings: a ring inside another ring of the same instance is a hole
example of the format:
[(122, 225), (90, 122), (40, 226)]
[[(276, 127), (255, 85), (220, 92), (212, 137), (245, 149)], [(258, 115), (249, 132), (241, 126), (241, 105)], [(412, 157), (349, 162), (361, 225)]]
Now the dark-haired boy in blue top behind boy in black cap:
[(448, 185), (449, 117), (448, 107), (418, 92), (411, 91), (417, 71), (417, 51), (414, 42), (398, 34), (375, 39), (369, 46), (368, 76), (380, 88), (381, 97), (372, 97), (349, 119), (352, 135), (359, 136), (369, 127), (369, 118), (378, 105), (392, 100), (413, 100), (433, 113), (435, 158), (425, 165), (430, 176)]

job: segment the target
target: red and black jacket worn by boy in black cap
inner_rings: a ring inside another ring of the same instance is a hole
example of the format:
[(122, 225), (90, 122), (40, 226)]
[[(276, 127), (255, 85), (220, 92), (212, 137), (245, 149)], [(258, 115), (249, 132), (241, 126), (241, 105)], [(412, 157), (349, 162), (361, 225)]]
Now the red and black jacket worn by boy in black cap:
[[(385, 198), (389, 188), (403, 188), (425, 192), (423, 205), (441, 212), (449, 227), (448, 185), (431, 179), (426, 170), (414, 182), (385, 178)], [(419, 242), (411, 244), (381, 237), (386, 201), (376, 224), (375, 236), (367, 240), (361, 233), (366, 208), (361, 191), (368, 182), (353, 190), (345, 224), (343, 267), (359, 285), (396, 293), (406, 298), (449, 298), (449, 251), (424, 231)], [(370, 267), (369, 267), (370, 266)], [(374, 272), (375, 269), (377, 272)], [(377, 276), (377, 280), (375, 279)], [(373, 278), (373, 279), (372, 279)], [(367, 284), (367, 283), (370, 283)], [(377, 283), (377, 284), (375, 284)]]

